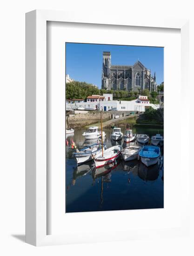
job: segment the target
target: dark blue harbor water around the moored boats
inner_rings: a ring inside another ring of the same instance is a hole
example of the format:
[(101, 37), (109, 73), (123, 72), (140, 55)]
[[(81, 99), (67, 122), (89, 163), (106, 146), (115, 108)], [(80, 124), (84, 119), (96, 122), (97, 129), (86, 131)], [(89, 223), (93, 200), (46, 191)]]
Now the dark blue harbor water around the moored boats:
[[(75, 129), (73, 135), (66, 137), (66, 213), (163, 208), (163, 148), (158, 164), (150, 167), (146, 167), (140, 160), (124, 162), (121, 158), (115, 166), (95, 169), (94, 162), (87, 162), (77, 167), (74, 149), (71, 148), (72, 140), (78, 149), (95, 143), (85, 141), (82, 133), (86, 130)], [(116, 144), (123, 148), (128, 146), (123, 140), (111, 140), (112, 128), (103, 130), (106, 133), (103, 142), (107, 148)], [(158, 133), (163, 136), (163, 129), (135, 127), (133, 133), (147, 134), (151, 138)]]

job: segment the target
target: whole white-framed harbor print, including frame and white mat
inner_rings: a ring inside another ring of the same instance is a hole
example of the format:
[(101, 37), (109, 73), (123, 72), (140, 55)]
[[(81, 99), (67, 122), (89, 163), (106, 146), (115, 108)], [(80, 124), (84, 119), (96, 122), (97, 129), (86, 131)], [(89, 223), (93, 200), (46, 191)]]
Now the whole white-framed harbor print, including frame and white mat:
[(187, 235), (187, 45), (187, 20), (27, 13), (27, 243)]

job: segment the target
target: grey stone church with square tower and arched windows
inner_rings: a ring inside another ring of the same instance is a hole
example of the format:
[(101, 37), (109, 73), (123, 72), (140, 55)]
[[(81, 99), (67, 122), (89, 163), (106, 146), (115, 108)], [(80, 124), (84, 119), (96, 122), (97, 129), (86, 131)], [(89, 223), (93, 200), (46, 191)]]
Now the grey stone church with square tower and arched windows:
[(111, 53), (103, 52), (102, 89), (156, 91), (156, 75), (137, 61), (133, 66), (112, 66)]

